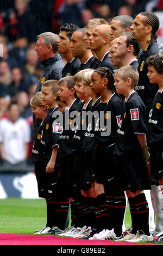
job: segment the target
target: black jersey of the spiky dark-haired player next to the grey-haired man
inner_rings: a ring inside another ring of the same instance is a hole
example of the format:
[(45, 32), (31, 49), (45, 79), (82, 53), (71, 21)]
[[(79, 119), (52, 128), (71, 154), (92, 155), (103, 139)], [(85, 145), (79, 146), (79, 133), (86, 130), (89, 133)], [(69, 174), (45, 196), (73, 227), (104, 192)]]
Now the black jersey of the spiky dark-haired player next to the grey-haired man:
[(78, 58), (73, 58), (71, 62), (67, 62), (62, 69), (62, 77), (74, 76), (80, 69), (81, 62)]

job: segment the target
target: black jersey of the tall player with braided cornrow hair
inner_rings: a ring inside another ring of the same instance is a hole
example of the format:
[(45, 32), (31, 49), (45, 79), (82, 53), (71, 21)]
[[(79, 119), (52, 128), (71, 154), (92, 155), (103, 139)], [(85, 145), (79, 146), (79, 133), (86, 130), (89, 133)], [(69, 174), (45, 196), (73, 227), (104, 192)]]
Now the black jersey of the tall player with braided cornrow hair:
[(147, 51), (141, 51), (139, 57), (139, 66), (137, 68), (137, 70), (139, 71), (139, 82), (135, 90), (140, 95), (147, 108), (150, 107), (153, 97), (158, 91), (159, 87), (158, 84), (151, 84), (149, 82), (149, 79), (147, 77), (148, 66), (146, 64), (146, 59), (149, 56), (152, 56), (159, 52), (162, 52), (161, 46), (156, 41), (153, 41), (151, 42), (151, 44), (149, 44)]

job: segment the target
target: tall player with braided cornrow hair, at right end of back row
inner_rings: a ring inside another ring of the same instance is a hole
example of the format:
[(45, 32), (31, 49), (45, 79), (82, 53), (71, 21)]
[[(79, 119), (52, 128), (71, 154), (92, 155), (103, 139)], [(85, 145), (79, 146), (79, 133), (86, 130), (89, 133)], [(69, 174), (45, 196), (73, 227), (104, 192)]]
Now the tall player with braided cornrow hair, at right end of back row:
[(135, 17), (133, 25), (130, 27), (133, 38), (139, 41), (142, 49), (139, 56), (139, 66), (137, 68), (139, 71), (139, 82), (135, 90), (147, 107), (147, 120), (151, 102), (159, 88), (158, 84), (151, 85), (148, 80), (146, 59), (153, 54), (162, 52), (162, 47), (156, 41), (156, 32), (159, 29), (159, 24), (159, 18), (156, 14), (145, 11)]

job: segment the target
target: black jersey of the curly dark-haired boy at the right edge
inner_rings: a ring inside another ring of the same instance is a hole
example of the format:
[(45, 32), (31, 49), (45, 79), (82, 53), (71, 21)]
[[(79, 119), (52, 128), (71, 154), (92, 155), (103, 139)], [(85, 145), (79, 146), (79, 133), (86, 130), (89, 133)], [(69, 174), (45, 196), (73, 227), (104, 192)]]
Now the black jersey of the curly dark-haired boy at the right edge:
[(149, 143), (163, 141), (163, 92), (156, 93), (148, 120)]

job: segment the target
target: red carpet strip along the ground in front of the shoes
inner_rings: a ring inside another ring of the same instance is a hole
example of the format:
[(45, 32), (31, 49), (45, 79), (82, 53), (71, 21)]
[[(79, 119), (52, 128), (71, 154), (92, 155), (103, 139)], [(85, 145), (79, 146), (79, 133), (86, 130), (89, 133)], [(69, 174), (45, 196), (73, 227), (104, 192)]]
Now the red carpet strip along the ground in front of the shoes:
[(55, 246), (108, 246), (108, 245), (152, 245), (150, 243), (129, 243), (102, 240), (82, 240), (47, 235), (17, 235), (0, 233), (1, 245), (55, 245)]

